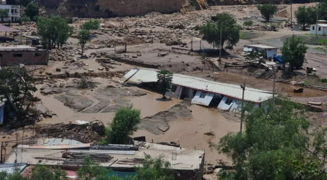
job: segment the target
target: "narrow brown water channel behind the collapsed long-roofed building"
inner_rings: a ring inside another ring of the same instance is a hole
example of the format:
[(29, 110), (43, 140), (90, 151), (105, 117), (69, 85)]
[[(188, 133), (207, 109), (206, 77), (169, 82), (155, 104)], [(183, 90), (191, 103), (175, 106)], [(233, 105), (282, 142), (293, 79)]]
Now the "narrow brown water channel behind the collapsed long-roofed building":
[[(208, 72), (208, 74), (210, 74), (210, 73)], [(193, 72), (189, 75), (208, 79), (206, 77), (208, 74), (204, 73), (204, 72)], [(254, 78), (254, 77), (250, 77), (250, 76), (229, 73), (229, 72), (221, 72), (221, 73), (219, 73), (219, 75), (213, 75), (213, 76), (215, 77), (215, 81), (218, 81), (218, 82), (230, 83), (230, 84), (241, 84), (244, 81), (246, 81), (246, 86), (262, 89), (264, 91), (271, 91), (271, 92), (273, 91), (273, 81), (271, 81), (271, 80)], [(293, 93), (294, 88), (303, 88), (303, 93)], [(276, 82), (275, 91), (276, 91), (276, 93), (281, 93), (284, 96), (290, 96), (290, 97), (308, 98), (308, 97), (327, 96), (326, 91), (320, 91), (318, 89), (300, 87), (300, 86), (279, 83), (279, 82)]]

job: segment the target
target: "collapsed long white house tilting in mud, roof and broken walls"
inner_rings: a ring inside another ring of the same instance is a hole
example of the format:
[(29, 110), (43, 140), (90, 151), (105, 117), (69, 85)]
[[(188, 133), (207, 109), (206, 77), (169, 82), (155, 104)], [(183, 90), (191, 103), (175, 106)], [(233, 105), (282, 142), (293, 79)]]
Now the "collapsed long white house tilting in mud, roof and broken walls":
[[(157, 82), (157, 70), (135, 68), (123, 77), (123, 81), (132, 84)], [(190, 99), (193, 104), (217, 107), (221, 110), (240, 111), (243, 88), (240, 85), (226, 84), (202, 78), (173, 74), (170, 91), (166, 96), (178, 99)], [(261, 107), (272, 98), (272, 92), (245, 87), (244, 101)]]

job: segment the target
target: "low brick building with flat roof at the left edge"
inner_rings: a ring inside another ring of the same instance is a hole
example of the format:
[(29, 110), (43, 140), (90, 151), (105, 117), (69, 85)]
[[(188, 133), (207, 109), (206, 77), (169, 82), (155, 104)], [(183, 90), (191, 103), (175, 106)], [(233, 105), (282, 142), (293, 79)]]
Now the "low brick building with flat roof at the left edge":
[(0, 65), (46, 65), (49, 53), (30, 46), (0, 47)]

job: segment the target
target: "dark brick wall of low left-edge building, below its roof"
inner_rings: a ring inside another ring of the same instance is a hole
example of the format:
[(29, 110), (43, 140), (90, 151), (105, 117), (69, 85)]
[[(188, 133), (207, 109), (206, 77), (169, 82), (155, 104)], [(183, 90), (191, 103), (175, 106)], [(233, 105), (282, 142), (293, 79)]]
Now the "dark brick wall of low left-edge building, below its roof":
[(49, 53), (44, 50), (35, 51), (0, 51), (0, 65), (46, 65)]

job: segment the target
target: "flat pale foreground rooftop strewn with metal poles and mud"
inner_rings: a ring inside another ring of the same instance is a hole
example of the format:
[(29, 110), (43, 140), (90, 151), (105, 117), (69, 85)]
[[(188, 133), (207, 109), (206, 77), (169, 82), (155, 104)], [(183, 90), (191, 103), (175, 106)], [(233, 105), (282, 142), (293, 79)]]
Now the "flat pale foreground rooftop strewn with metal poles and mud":
[[(199, 169), (202, 159), (204, 158), (204, 151), (177, 148), (173, 146), (166, 146), (160, 144), (152, 144), (145, 142), (136, 142), (138, 151), (121, 151), (121, 150), (87, 150), (74, 149), (72, 152), (92, 152), (92, 153), (106, 153), (112, 156), (108, 162), (101, 163), (104, 167), (111, 168), (134, 168), (142, 166), (140, 160), (144, 159), (146, 155), (151, 158), (162, 158), (170, 162), (172, 169), (178, 170), (194, 170)], [(15, 152), (16, 151), (16, 152)], [(22, 162), (29, 162), (29, 164), (44, 164), (44, 165), (64, 165), (62, 153), (64, 149), (21, 149), (17, 148), (8, 158), (7, 162), (14, 162), (17, 159)], [(21, 152), (22, 151), (22, 152)], [(173, 156), (175, 158), (173, 158)], [(44, 159), (42, 159), (44, 158)], [(41, 160), (41, 162), (39, 162)], [(66, 159), (65, 159), (66, 160)], [(70, 164), (71, 165), (71, 164)]]

